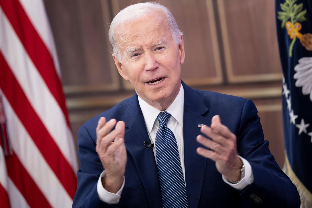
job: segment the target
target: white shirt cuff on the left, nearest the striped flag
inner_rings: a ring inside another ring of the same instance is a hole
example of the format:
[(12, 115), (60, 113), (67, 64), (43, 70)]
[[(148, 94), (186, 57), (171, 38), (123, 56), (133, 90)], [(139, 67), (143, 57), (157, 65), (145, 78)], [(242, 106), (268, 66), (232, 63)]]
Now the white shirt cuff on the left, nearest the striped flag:
[(100, 178), (98, 180), (98, 184), (97, 184), (97, 191), (98, 191), (99, 198), (101, 201), (104, 201), (107, 204), (118, 204), (120, 200), (121, 192), (124, 188), (125, 178), (119, 191), (117, 191), (117, 193), (114, 194), (114, 193), (106, 191), (105, 188), (103, 187), (102, 178), (104, 176), (105, 176), (105, 171), (101, 173)]

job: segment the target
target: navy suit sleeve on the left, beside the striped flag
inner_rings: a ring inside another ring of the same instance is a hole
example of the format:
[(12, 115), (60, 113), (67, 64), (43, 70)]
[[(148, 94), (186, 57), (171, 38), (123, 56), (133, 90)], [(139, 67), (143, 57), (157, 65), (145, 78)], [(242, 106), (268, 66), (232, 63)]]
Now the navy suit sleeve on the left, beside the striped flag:
[(78, 156), (80, 169), (77, 172), (78, 184), (72, 207), (118, 207), (100, 200), (97, 192), (97, 182), (103, 172), (103, 166), (88, 130), (81, 126), (78, 132)]

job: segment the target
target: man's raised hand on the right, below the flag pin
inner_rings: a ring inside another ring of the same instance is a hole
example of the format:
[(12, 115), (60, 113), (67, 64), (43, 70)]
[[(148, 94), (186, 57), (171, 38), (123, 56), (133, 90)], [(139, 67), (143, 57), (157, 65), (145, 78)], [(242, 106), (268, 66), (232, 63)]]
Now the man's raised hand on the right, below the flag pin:
[(210, 127), (204, 126), (200, 131), (211, 140), (198, 135), (197, 142), (210, 150), (200, 147), (197, 153), (215, 161), (219, 173), (232, 181), (239, 181), (243, 162), (237, 157), (235, 134), (221, 123), (219, 115), (212, 117)]

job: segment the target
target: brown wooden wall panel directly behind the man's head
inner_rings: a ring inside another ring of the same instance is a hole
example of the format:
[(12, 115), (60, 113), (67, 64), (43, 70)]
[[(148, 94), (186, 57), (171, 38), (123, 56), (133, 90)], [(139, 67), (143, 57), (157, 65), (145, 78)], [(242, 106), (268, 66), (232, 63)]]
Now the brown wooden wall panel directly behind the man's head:
[[(131, 4), (146, 2), (133, 0)], [(183, 31), (186, 59), (181, 78), (192, 86), (222, 84), (222, 68), (217, 43), (217, 30), (212, 0), (163, 0)], [(113, 1), (114, 14), (130, 4), (129, 0)], [(133, 89), (128, 81), (126, 89)]]

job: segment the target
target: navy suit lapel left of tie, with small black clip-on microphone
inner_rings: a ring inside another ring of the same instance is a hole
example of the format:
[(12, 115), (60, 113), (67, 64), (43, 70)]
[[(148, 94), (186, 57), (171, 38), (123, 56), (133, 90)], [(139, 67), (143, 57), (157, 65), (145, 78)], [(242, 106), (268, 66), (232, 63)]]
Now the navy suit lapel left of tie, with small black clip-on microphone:
[(161, 207), (160, 186), (153, 149), (145, 149), (143, 141), (149, 141), (144, 117), (135, 94), (129, 101), (124, 115), (126, 132), (124, 143), (133, 157), (145, 188), (150, 207)]

